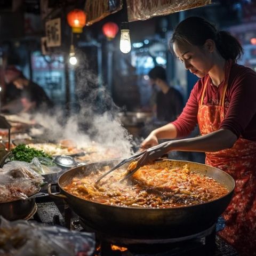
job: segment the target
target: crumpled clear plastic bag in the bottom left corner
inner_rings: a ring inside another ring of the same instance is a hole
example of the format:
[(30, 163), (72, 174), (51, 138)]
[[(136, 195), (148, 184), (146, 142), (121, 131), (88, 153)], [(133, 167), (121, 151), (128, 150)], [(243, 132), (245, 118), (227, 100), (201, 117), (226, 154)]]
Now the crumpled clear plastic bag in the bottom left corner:
[(24, 220), (10, 222), (1, 217), (0, 255), (89, 256), (93, 254), (94, 246), (95, 238), (91, 233)]

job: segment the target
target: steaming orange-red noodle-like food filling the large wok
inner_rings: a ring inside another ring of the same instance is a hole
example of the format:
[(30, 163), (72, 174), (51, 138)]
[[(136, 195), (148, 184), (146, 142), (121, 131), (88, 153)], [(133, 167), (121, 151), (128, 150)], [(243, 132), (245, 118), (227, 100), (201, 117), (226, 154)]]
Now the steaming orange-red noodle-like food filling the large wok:
[[(135, 165), (132, 163), (132, 165)], [(168, 167), (154, 164), (140, 167), (130, 180), (122, 180), (133, 166), (107, 175), (100, 187), (94, 182), (110, 167), (97, 173), (74, 177), (64, 189), (87, 201), (115, 206), (168, 208), (203, 204), (228, 193), (228, 189), (211, 177), (189, 170), (188, 166)]]

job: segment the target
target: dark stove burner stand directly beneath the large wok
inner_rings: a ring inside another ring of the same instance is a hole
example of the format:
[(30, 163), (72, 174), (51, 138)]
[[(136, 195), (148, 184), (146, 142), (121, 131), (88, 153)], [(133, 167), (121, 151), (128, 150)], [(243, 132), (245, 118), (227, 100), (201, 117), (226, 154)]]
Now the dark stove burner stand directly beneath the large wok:
[[(132, 239), (115, 237), (103, 234), (85, 225), (83, 219), (79, 218), (83, 231), (94, 232), (100, 244), (100, 255), (113, 255), (111, 245), (126, 247), (129, 252), (134, 254), (145, 254), (159, 256), (164, 255), (214, 255), (215, 253), (215, 223), (210, 228), (186, 237), (167, 238), (167, 239)], [(115, 252), (118, 253), (118, 252)], [(161, 254), (159, 254), (161, 253)], [(164, 254), (162, 254), (164, 253)], [(167, 254), (166, 254), (167, 253)], [(184, 254), (185, 253), (185, 254)], [(120, 254), (122, 255), (122, 254)]]

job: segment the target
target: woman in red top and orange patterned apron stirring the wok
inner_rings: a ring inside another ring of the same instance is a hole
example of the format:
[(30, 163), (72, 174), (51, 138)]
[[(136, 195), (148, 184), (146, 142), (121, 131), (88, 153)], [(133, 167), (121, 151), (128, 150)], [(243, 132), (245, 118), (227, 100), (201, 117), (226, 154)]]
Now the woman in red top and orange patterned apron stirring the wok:
[[(205, 152), (207, 165), (236, 181), (219, 235), (241, 255), (256, 255), (256, 73), (236, 64), (243, 53), (237, 39), (202, 18), (180, 22), (171, 43), (176, 57), (200, 79), (178, 119), (142, 142), (147, 150), (138, 164), (172, 150)], [(197, 123), (202, 136), (158, 145), (158, 139), (187, 136)]]

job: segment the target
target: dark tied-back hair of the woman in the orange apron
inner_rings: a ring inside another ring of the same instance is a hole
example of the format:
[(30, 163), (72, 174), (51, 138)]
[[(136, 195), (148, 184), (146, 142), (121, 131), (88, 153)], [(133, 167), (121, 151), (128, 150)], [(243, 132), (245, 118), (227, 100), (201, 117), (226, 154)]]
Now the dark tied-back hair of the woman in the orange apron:
[(214, 25), (203, 18), (189, 17), (175, 28), (171, 43), (189, 43), (203, 46), (207, 39), (215, 42), (217, 50), (225, 59), (237, 60), (243, 54), (243, 48), (237, 39), (227, 31), (219, 31)]

